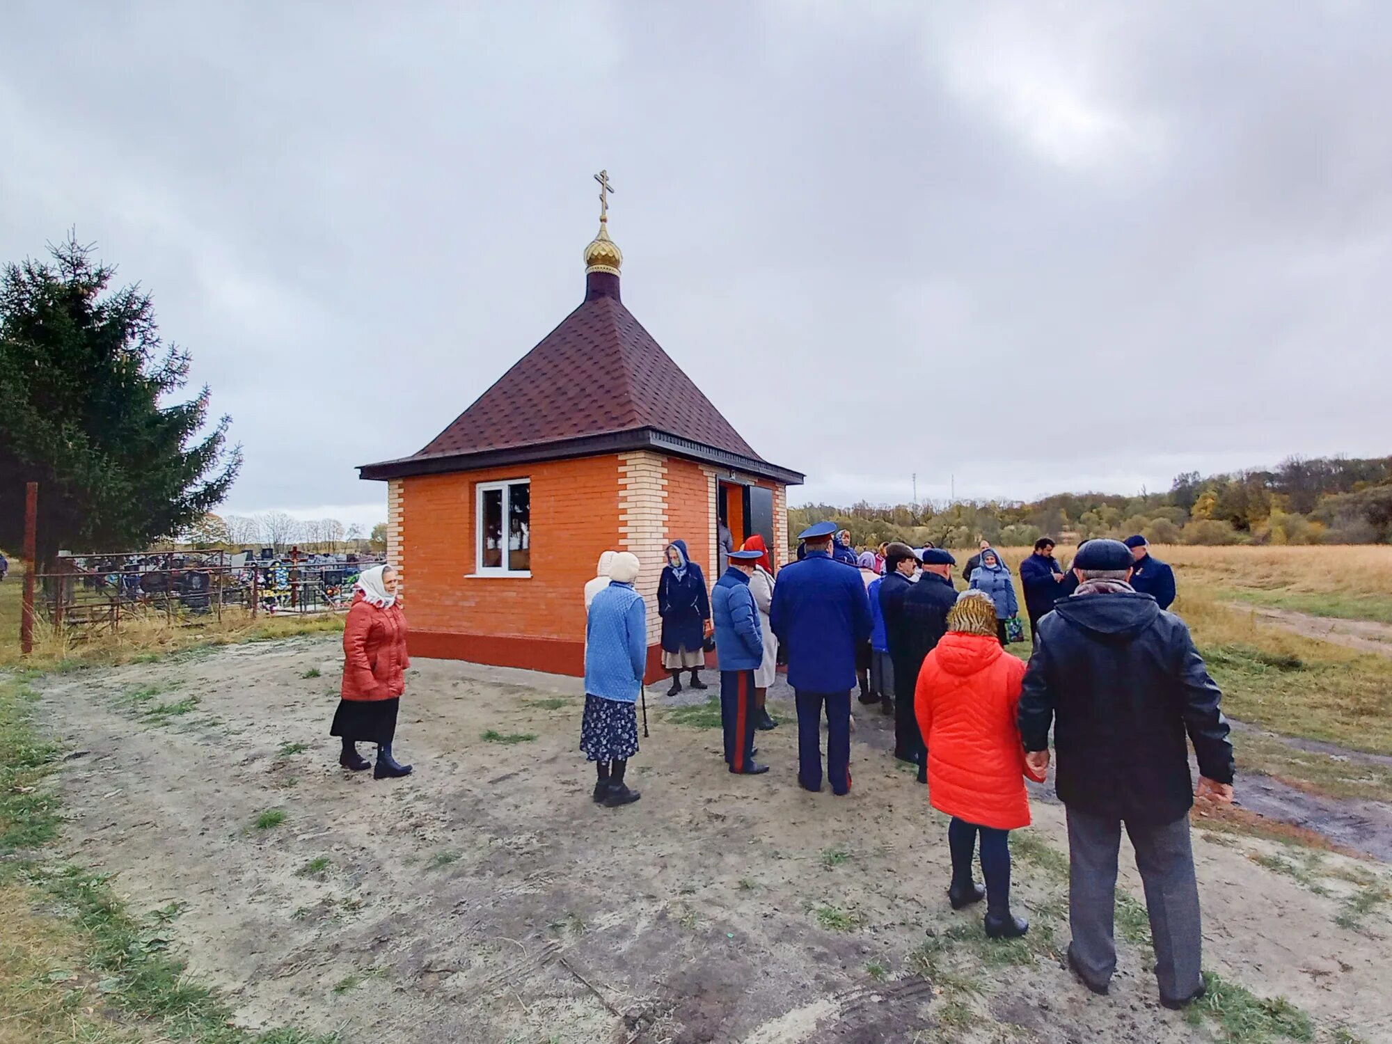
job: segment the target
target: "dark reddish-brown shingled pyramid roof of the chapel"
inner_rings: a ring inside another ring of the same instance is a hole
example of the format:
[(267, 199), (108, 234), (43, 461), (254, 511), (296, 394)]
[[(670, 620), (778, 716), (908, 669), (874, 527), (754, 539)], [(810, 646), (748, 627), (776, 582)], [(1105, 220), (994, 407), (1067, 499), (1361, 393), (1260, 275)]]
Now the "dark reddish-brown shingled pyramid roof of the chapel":
[(785, 483), (619, 299), (590, 273), (586, 299), (418, 454), (363, 465), (387, 479), (494, 464), (653, 448)]

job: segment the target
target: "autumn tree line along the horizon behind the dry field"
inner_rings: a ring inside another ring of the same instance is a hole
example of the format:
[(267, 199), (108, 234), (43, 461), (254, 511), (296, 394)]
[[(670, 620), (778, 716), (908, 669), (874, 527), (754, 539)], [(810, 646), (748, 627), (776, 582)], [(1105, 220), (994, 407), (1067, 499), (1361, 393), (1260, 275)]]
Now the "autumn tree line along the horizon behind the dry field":
[(1392, 543), (1392, 457), (1290, 457), (1272, 469), (1175, 477), (1166, 493), (1057, 493), (1037, 501), (809, 504), (788, 509), (788, 532), (830, 519), (857, 547), (1002, 547), (1125, 537), (1157, 544)]

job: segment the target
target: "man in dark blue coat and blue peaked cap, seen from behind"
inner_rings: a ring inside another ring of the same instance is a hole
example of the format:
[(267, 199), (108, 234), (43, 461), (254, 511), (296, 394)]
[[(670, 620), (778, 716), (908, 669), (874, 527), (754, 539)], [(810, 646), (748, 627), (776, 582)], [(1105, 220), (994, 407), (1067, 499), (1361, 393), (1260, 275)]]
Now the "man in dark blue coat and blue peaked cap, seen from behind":
[(820, 522), (798, 535), (807, 557), (785, 565), (768, 622), (788, 650), (788, 683), (798, 697), (798, 782), (821, 789), (821, 710), (827, 709), (827, 775), (832, 793), (851, 791), (851, 689), (856, 647), (870, 639), (870, 601), (857, 569), (831, 558), (837, 528)]

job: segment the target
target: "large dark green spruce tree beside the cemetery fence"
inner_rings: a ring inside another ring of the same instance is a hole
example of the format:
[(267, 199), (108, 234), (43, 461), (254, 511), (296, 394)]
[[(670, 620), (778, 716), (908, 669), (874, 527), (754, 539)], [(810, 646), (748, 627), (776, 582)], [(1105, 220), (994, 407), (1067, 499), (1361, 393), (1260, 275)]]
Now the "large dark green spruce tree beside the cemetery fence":
[(166, 345), (149, 294), (70, 234), (52, 263), (0, 276), (0, 547), (18, 551), (24, 484), (39, 483), (39, 561), (60, 548), (120, 551), (170, 536), (226, 496), (241, 448), (210, 433), (209, 390), (167, 397), (189, 356)]

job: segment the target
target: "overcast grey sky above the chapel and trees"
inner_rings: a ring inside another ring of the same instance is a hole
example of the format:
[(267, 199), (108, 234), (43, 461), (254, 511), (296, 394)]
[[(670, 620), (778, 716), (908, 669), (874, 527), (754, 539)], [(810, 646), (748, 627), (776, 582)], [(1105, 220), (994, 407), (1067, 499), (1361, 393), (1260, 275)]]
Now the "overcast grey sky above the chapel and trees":
[(232, 415), (232, 514), (370, 523), (583, 292), (793, 503), (1392, 452), (1392, 4), (17, 3), (0, 259), (70, 226)]

